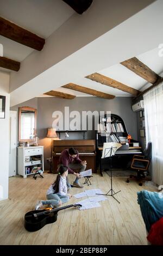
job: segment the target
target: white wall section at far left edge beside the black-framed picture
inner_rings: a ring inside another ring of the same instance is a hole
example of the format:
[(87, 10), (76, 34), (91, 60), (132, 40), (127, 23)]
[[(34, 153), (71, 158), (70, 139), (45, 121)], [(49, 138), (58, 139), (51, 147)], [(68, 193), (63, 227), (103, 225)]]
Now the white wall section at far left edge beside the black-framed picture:
[(9, 80), (9, 73), (0, 71), (0, 95), (6, 96), (5, 118), (0, 118), (0, 201), (8, 198), (9, 189)]

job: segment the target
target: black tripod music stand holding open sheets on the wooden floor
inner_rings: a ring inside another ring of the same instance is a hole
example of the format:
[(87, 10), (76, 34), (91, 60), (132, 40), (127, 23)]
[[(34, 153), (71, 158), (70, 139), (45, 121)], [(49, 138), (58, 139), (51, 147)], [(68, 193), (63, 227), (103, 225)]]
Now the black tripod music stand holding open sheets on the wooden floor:
[[(114, 156), (115, 153), (116, 153), (116, 150), (118, 148), (120, 148), (122, 145), (120, 143), (115, 143), (115, 142), (109, 142), (109, 143), (104, 143), (103, 144), (103, 154), (102, 154), (102, 159), (104, 158), (109, 158), (109, 162), (110, 162), (110, 179), (111, 179), (111, 188), (110, 190), (108, 191), (108, 193), (106, 194), (102, 194), (103, 196), (110, 196), (110, 197), (113, 197), (119, 204), (120, 202), (114, 197), (115, 194), (121, 192), (118, 191), (118, 192), (115, 192), (113, 189), (112, 189), (112, 164), (111, 164), (111, 156)], [(111, 194), (109, 194), (109, 192), (111, 191)], [(97, 193), (96, 193), (97, 194)]]

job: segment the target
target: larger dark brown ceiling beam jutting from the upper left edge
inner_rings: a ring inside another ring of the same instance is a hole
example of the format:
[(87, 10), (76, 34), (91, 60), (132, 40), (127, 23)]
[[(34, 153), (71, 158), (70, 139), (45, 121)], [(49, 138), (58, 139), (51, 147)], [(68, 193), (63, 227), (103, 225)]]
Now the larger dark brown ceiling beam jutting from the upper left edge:
[(45, 44), (45, 39), (40, 38), (40, 36), (37, 36), (2, 17), (0, 17), (0, 35), (37, 51), (41, 51)]

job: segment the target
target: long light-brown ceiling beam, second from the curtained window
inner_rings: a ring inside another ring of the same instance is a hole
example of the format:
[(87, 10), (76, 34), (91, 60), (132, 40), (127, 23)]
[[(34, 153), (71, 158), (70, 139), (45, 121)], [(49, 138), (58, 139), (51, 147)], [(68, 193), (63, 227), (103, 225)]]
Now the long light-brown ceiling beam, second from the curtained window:
[(120, 83), (110, 77), (103, 76), (98, 73), (93, 73), (89, 76), (86, 76), (86, 78), (89, 78), (90, 80), (96, 81), (98, 83), (102, 83), (105, 86), (110, 86), (112, 88), (122, 90), (123, 92), (130, 93), (135, 96), (140, 93), (139, 90), (126, 86), (126, 84)]

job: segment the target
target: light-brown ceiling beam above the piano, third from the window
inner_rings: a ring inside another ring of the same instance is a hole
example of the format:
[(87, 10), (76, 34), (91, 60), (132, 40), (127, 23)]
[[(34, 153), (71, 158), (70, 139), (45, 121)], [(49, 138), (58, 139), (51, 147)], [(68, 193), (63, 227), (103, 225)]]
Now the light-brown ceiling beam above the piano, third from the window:
[(108, 100), (111, 100), (111, 99), (115, 98), (114, 95), (111, 95), (111, 94), (108, 94), (108, 93), (98, 92), (97, 90), (93, 90), (93, 89), (90, 89), (90, 88), (87, 88), (87, 87), (78, 86), (78, 84), (74, 84), (74, 83), (68, 83), (68, 84), (66, 84), (65, 86), (62, 86), (62, 87), (67, 88), (67, 89), (71, 89), (71, 90), (76, 90), (77, 92), (82, 92), (82, 93), (90, 94), (90, 95), (93, 95), (93, 96), (102, 97), (102, 98), (108, 99)]

